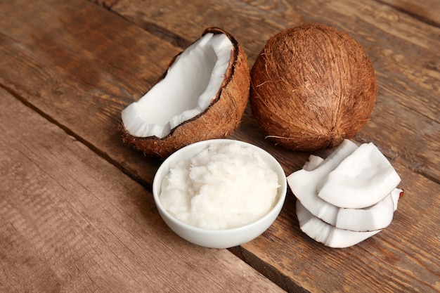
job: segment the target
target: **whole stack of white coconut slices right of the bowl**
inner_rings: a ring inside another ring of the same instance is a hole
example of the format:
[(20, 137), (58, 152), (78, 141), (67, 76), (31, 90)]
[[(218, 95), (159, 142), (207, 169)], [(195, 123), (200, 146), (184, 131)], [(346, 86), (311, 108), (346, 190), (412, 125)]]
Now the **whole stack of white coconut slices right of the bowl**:
[(344, 140), (326, 159), (311, 155), (287, 176), (304, 233), (328, 247), (349, 247), (389, 226), (401, 179), (373, 143)]

